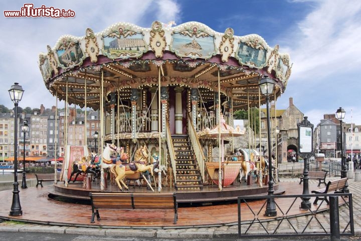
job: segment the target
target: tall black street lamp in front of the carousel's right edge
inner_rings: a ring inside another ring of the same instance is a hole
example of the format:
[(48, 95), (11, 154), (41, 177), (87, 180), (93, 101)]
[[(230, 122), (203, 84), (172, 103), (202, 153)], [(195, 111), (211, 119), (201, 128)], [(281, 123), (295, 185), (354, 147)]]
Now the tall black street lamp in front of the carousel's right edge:
[[(270, 110), (269, 110), (269, 99), (270, 95), (273, 92), (273, 87), (275, 83), (272, 79), (270, 79), (268, 76), (264, 76), (263, 79), (261, 79), (259, 83), (259, 88), (261, 93), (266, 96), (266, 104), (267, 104), (267, 139), (268, 139), (268, 195), (273, 195), (274, 189), (273, 189), (273, 178), (272, 178), (272, 150), (271, 150), (271, 121), (270, 121)], [(266, 206), (266, 216), (276, 216), (276, 205), (274, 202), (274, 198), (268, 198), (267, 199), (267, 206)]]

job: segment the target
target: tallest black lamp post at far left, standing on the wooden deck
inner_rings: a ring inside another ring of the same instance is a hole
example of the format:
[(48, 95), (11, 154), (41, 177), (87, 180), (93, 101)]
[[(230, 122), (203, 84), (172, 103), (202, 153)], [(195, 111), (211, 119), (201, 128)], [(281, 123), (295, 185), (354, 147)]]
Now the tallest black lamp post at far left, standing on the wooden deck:
[(9, 89), (9, 94), (10, 94), (10, 98), (11, 100), (14, 102), (15, 105), (15, 138), (14, 138), (14, 189), (13, 189), (13, 202), (12, 202), (12, 207), (10, 210), (9, 215), (11, 216), (19, 216), (19, 215), (23, 215), (23, 211), (21, 209), (21, 205), (20, 205), (20, 198), (19, 198), (19, 183), (18, 183), (18, 104), (20, 102), (20, 100), (23, 97), (23, 93), (24, 90), (21, 87), (21, 85), (19, 85), (19, 83), (14, 83), (10, 89)]

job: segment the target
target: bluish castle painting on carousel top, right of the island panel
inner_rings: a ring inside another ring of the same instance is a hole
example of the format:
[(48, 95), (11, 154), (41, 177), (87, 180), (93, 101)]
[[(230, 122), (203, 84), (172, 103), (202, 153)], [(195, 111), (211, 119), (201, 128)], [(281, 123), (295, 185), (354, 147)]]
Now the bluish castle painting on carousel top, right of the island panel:
[(240, 42), (236, 58), (241, 64), (263, 68), (266, 64), (266, 49), (258, 39)]

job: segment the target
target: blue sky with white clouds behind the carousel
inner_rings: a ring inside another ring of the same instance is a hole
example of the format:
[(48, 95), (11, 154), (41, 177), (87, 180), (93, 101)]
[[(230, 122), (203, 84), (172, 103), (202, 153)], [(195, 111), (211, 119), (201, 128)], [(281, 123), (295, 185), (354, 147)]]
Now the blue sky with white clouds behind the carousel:
[[(74, 18), (6, 18), (24, 4), (72, 10)], [(315, 127), (323, 114), (346, 111), (344, 121), (361, 125), (361, 1), (358, 0), (42, 0), (1, 1), (0, 104), (13, 108), (8, 89), (18, 82), (25, 90), (19, 106), (46, 108), (56, 99), (46, 89), (39, 70), (39, 53), (54, 47), (63, 35), (84, 36), (112, 24), (129, 22), (150, 28), (153, 21), (177, 25), (197, 21), (236, 36), (258, 34), (270, 47), (280, 46), (293, 63), (292, 74), (277, 109), (289, 98)], [(58, 107), (63, 107), (58, 102)]]

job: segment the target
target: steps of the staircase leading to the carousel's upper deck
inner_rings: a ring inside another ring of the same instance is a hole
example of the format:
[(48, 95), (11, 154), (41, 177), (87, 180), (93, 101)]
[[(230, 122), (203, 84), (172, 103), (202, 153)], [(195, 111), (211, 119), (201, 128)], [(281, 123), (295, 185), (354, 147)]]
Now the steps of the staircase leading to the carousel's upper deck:
[(202, 190), (201, 173), (188, 135), (171, 137), (175, 153), (176, 190)]

